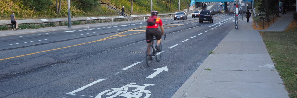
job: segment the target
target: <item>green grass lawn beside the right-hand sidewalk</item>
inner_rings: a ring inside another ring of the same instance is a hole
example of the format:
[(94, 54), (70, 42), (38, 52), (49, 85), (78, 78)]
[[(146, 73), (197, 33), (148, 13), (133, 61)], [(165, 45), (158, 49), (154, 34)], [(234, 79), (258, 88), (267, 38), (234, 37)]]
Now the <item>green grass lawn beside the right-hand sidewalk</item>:
[(289, 97), (297, 98), (297, 22), (286, 31), (260, 32)]

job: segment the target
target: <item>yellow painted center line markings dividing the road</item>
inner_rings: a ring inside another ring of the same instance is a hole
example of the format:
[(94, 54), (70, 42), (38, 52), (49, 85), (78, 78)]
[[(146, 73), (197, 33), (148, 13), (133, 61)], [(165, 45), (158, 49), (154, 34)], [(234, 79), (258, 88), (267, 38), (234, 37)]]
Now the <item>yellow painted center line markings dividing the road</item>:
[[(194, 22), (191, 22), (191, 23), (194, 23)], [(186, 23), (186, 24), (189, 24), (189, 23)], [(185, 25), (185, 24), (174, 24), (174, 25), (181, 26), (181, 25)], [(174, 26), (170, 26), (170, 27), (174, 27)], [(167, 28), (170, 28), (170, 27), (167, 27)], [(135, 29), (138, 29), (138, 28), (135, 28)], [(132, 31), (132, 30), (133, 29), (130, 29), (130, 30), (127, 30), (127, 31)], [(62, 47), (62, 48), (56, 48), (56, 49), (51, 49), (51, 50), (45, 50), (45, 51), (40, 51), (40, 52), (35, 52), (35, 53), (24, 54), (24, 55), (20, 55), (20, 56), (14, 56), (14, 57), (9, 57), (9, 58), (4, 58), (4, 59), (0, 59), (0, 61), (7, 60), (7, 59), (12, 59), (12, 58), (17, 58), (17, 57), (22, 57), (22, 56), (28, 56), (28, 55), (37, 54), (37, 53), (43, 53), (43, 52), (48, 52), (48, 51), (53, 51), (53, 50), (59, 50), (59, 49), (74, 47), (74, 46), (78, 46), (78, 45), (89, 44), (89, 43), (93, 43), (93, 42), (99, 42), (99, 41), (103, 41), (103, 40), (107, 40), (107, 39), (113, 39), (113, 38), (118, 38), (118, 37), (124, 37), (124, 36), (128, 36), (128, 35), (132, 35), (132, 34), (122, 34), (122, 33), (125, 33), (127, 31), (124, 31), (124, 32), (121, 32), (121, 33), (118, 33), (118, 34), (115, 34), (115, 35), (112, 35), (112, 36), (109, 36), (109, 37), (106, 37), (106, 38), (103, 38), (103, 39), (95, 40), (95, 41), (92, 41), (92, 42), (86, 42), (86, 43), (81, 43), (81, 44), (77, 44), (77, 45), (71, 45), (71, 46)], [(133, 34), (139, 34), (139, 33), (145, 32), (145, 31), (146, 30), (144, 30), (142, 32), (138, 32), (138, 33), (133, 33)], [(114, 36), (116, 36), (116, 37), (114, 37)]]

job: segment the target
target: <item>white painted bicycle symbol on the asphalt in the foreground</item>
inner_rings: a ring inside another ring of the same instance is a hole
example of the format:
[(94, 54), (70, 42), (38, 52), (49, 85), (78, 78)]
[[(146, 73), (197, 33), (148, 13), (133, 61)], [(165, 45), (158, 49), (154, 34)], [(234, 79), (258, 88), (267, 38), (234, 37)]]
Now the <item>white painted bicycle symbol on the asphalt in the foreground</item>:
[[(149, 98), (151, 96), (151, 91), (144, 90), (147, 86), (154, 86), (155, 84), (143, 84), (144, 86), (133, 85), (136, 83), (129, 83), (120, 88), (111, 88), (99, 93), (95, 98), (113, 98), (117, 96), (127, 97), (127, 98), (140, 98), (143, 93), (146, 95), (143, 98)], [(129, 87), (134, 87), (136, 89), (128, 91)]]

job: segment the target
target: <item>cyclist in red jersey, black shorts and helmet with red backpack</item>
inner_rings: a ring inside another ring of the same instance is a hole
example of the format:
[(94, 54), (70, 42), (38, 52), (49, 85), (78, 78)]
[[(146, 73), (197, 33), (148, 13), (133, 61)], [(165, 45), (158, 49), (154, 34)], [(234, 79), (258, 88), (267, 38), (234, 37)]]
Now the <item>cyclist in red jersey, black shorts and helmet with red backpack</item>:
[[(151, 15), (158, 15), (158, 11), (152, 11), (151, 12)], [(158, 26), (160, 25), (160, 28), (161, 28), (161, 31), (162, 33), (160, 32)], [(154, 25), (151, 25), (151, 26), (147, 26), (146, 27), (146, 42), (148, 43), (148, 46), (151, 45), (151, 39), (153, 36), (156, 37), (157, 39), (157, 45), (156, 45), (156, 48), (157, 48), (157, 51), (159, 51), (159, 44), (161, 42), (161, 36), (164, 35), (164, 28), (163, 28), (163, 23), (162, 23), (162, 20), (161, 18), (159, 17), (156, 17), (156, 23)], [(147, 51), (148, 54), (150, 54), (151, 51)], [(152, 59), (152, 57), (150, 57), (150, 60)]]

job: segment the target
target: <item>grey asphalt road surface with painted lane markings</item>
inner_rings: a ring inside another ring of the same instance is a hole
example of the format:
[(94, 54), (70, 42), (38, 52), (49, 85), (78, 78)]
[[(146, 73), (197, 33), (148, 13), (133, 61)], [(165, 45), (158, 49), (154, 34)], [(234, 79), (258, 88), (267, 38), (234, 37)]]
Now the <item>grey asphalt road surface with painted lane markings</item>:
[(0, 37), (0, 97), (170, 98), (234, 28), (234, 18), (221, 24), (234, 10), (214, 23), (163, 21), (151, 67), (146, 23)]

